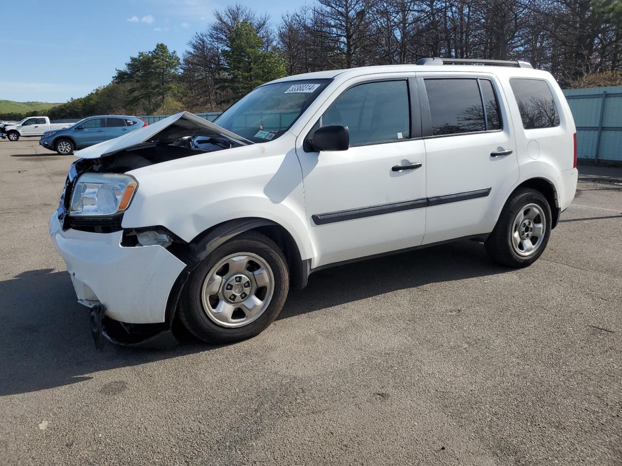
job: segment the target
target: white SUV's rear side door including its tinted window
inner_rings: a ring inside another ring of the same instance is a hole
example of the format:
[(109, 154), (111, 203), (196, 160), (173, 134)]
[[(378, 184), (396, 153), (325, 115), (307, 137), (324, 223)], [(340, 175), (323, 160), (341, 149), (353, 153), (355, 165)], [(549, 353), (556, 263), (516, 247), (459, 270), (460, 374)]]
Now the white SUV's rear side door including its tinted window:
[(488, 73), (455, 72), (417, 73), (417, 83), (427, 153), (423, 244), (488, 233), (499, 199), (519, 177), (500, 83)]

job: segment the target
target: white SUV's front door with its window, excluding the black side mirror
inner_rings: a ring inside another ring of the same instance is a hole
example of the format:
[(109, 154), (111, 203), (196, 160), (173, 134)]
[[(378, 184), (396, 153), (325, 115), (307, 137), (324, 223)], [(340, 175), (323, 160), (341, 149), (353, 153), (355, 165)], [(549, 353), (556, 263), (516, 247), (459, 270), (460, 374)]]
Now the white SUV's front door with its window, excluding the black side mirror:
[(415, 81), (354, 78), (333, 95), (315, 127), (347, 126), (350, 148), (305, 152), (313, 122), (297, 142), (313, 268), (417, 246), (425, 231), (425, 148), (409, 99), (417, 98)]

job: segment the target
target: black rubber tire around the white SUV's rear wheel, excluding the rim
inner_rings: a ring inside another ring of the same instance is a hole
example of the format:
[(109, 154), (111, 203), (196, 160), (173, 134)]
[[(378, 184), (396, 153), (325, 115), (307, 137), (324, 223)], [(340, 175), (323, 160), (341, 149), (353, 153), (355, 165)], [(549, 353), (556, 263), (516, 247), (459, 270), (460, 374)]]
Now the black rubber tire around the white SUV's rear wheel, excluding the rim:
[[(513, 245), (514, 219), (516, 219), (521, 209), (528, 204), (536, 204), (544, 213), (544, 234), (542, 235), (542, 242), (537, 246), (537, 249), (529, 255), (521, 255), (514, 250)], [(484, 243), (486, 252), (494, 261), (508, 267), (518, 268), (531, 265), (541, 256), (549, 242), (552, 226), (551, 217), (549, 202), (540, 191), (529, 188), (520, 188), (514, 191), (503, 206), (493, 232), (491, 232)]]

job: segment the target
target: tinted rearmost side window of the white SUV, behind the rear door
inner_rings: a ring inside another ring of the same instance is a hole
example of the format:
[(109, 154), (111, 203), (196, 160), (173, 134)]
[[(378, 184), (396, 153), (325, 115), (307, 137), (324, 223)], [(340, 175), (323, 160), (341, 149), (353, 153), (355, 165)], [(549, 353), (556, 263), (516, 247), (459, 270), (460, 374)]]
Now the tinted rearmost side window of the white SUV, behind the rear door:
[(559, 126), (559, 112), (546, 81), (513, 78), (509, 83), (521, 113), (524, 129)]

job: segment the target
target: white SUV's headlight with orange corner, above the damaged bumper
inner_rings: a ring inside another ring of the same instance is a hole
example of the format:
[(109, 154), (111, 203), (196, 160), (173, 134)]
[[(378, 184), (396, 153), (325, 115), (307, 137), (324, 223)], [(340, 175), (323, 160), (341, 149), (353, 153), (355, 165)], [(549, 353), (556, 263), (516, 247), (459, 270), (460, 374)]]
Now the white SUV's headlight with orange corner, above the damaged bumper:
[(138, 183), (132, 176), (85, 173), (73, 187), (70, 216), (111, 215), (128, 208)]

